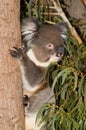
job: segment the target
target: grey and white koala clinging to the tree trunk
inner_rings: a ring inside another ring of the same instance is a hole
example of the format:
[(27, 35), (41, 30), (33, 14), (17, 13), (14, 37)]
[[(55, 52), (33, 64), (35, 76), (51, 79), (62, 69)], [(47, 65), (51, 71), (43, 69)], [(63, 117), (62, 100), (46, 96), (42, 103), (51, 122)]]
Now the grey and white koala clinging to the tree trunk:
[(35, 124), (40, 106), (54, 102), (54, 93), (47, 87), (45, 73), (52, 62), (59, 62), (64, 55), (65, 24), (42, 24), (37, 19), (24, 19), (21, 24), (22, 46), (10, 50), (18, 59), (25, 106), (25, 130), (40, 130)]

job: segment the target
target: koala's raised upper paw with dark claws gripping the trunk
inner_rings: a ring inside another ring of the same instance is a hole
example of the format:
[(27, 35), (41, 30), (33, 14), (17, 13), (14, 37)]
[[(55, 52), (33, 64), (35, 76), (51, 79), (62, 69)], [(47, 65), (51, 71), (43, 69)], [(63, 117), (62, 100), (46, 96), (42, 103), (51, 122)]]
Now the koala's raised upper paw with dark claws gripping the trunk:
[(20, 58), (23, 54), (23, 49), (18, 47), (13, 47), (13, 49), (10, 49), (9, 51), (14, 58)]

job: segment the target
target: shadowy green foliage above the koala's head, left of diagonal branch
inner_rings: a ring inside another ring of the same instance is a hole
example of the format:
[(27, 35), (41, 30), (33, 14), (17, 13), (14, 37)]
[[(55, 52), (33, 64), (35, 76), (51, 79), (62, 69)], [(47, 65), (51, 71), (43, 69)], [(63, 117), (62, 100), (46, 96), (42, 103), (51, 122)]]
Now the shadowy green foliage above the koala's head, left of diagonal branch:
[(62, 21), (49, 0), (21, 0), (21, 18), (34, 16), (42, 22)]

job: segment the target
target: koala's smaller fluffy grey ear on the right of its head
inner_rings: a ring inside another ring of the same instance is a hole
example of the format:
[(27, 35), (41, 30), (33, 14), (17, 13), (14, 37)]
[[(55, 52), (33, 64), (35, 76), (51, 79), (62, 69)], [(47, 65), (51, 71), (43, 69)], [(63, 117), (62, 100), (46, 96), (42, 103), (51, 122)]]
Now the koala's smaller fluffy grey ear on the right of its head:
[(65, 22), (60, 22), (60, 23), (57, 23), (55, 24), (58, 32), (61, 34), (61, 36), (66, 39), (67, 36), (66, 36), (66, 33), (68, 31), (68, 26), (67, 26), (67, 23)]

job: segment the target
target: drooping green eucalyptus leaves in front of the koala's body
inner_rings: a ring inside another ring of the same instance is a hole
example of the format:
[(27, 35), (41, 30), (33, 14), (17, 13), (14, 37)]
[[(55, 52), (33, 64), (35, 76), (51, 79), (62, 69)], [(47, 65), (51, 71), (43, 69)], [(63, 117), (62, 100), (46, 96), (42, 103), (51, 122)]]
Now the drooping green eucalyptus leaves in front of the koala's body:
[(44, 130), (86, 129), (86, 45), (70, 36), (65, 50), (63, 60), (52, 63), (46, 74), (56, 103), (46, 103), (39, 110)]

